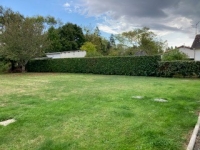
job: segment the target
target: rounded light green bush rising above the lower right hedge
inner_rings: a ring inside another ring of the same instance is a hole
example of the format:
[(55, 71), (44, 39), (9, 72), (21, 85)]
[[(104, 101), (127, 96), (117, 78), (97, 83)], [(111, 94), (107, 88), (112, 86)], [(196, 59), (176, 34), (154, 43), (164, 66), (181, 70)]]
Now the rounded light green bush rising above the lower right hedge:
[(173, 60), (186, 60), (188, 59), (188, 56), (180, 52), (178, 49), (172, 49), (167, 52), (165, 52), (162, 56), (163, 61), (173, 61)]

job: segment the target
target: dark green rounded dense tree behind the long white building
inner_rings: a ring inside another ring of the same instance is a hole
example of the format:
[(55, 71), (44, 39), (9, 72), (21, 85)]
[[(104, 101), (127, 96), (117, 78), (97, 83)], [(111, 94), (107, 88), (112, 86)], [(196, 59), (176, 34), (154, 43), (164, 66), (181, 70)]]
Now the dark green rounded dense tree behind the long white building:
[(67, 23), (58, 28), (61, 51), (78, 50), (85, 42), (82, 28), (76, 24)]

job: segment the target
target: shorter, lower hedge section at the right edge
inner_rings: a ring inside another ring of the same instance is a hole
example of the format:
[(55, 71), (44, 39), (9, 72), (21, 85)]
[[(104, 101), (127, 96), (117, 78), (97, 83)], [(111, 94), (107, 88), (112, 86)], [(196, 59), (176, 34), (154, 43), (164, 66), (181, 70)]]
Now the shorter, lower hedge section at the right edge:
[(200, 61), (159, 62), (157, 76), (200, 77)]

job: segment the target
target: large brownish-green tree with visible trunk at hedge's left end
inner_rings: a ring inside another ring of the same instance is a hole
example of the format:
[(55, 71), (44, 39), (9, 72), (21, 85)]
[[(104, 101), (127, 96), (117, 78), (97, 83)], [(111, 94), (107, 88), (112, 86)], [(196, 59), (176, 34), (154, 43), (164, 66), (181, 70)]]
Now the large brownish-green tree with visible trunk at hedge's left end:
[(3, 32), (0, 36), (0, 53), (15, 61), (25, 71), (25, 65), (33, 58), (44, 54), (49, 45), (44, 34), (44, 22), (40, 17), (24, 17), (10, 9), (1, 11)]

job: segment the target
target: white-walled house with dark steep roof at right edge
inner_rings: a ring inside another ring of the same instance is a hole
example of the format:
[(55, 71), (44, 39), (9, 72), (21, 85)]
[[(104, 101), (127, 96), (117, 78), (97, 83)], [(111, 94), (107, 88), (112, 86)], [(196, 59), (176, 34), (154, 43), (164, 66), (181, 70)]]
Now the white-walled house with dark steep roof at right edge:
[(191, 49), (194, 51), (194, 60), (200, 61), (200, 34), (197, 34)]

